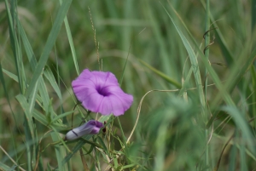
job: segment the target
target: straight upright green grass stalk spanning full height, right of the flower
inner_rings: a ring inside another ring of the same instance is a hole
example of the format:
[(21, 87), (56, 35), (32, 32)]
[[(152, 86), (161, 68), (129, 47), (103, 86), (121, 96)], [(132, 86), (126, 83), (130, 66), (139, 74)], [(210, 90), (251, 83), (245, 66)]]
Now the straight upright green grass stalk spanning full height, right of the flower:
[[(209, 44), (210, 44), (210, 0), (207, 0), (207, 9), (206, 9), (206, 28), (205, 28), (205, 31), (207, 32), (207, 34), (205, 35), (205, 57), (206, 57), (206, 60), (209, 59)], [(206, 121), (207, 121), (207, 67), (206, 67), (206, 71), (205, 71), (205, 106), (204, 106), (204, 112), (205, 112), (205, 116), (206, 116)], [(206, 136), (206, 142), (208, 141), (208, 130), (206, 128), (205, 130), (205, 136)], [(205, 153), (205, 166), (208, 167), (209, 166), (209, 146), (207, 145), (207, 148), (206, 148), (206, 153)], [(207, 171), (209, 169), (207, 168)]]

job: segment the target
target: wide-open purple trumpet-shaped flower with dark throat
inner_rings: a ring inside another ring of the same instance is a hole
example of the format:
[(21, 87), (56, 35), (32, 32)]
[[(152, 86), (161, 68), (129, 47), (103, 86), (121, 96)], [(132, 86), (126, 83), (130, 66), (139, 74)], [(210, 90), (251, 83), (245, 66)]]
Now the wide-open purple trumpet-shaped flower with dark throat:
[(125, 94), (113, 73), (84, 70), (72, 82), (73, 92), (84, 108), (119, 116), (131, 107), (133, 97)]

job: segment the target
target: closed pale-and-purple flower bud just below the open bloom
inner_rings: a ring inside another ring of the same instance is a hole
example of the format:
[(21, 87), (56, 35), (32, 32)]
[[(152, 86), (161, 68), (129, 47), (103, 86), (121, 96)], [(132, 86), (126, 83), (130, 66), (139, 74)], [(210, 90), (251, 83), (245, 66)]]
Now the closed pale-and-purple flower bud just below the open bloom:
[(65, 136), (65, 140), (76, 140), (85, 134), (98, 134), (102, 127), (104, 127), (103, 123), (90, 120), (89, 122), (84, 123), (84, 125), (68, 131)]

